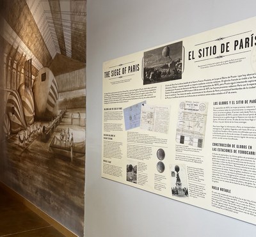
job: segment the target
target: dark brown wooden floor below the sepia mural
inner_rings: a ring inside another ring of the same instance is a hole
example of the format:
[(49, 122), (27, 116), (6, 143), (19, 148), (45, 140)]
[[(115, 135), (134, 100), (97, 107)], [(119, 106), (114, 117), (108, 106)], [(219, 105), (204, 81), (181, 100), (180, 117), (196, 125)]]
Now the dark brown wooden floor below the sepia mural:
[(63, 236), (0, 187), (0, 236)]

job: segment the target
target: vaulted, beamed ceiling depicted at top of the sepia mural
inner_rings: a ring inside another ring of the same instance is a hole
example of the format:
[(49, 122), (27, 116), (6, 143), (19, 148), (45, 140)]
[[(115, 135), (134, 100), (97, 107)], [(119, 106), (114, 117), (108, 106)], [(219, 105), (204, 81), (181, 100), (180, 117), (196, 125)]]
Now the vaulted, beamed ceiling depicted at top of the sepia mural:
[(32, 58), (34, 72), (58, 65), (59, 75), (85, 66), (86, 0), (4, 0), (2, 17), (5, 53)]

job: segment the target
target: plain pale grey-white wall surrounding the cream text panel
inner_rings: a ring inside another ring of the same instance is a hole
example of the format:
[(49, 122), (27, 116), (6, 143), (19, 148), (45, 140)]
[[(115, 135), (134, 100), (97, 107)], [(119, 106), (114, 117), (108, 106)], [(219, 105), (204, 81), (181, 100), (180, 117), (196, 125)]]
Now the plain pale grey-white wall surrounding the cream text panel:
[(102, 63), (254, 17), (256, 1), (87, 0), (86, 237), (250, 237), (256, 227), (100, 177)]

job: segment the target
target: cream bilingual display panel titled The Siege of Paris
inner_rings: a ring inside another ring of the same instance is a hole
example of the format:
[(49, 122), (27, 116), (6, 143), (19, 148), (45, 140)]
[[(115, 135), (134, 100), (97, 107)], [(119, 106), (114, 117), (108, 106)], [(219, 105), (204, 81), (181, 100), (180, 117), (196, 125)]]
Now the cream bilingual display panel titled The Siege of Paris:
[(102, 177), (256, 224), (256, 18), (102, 77)]

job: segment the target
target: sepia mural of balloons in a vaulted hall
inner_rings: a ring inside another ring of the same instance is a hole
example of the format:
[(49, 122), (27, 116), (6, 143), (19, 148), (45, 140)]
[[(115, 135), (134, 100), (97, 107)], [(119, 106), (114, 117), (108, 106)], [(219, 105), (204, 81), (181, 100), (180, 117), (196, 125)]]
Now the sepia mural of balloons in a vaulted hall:
[(0, 181), (83, 236), (86, 0), (1, 4)]

